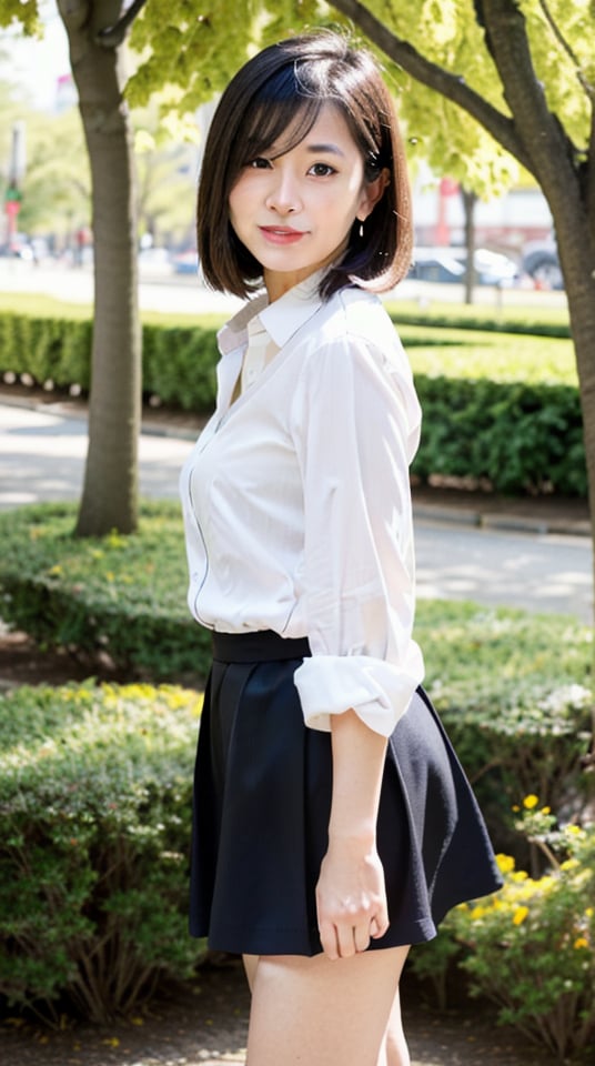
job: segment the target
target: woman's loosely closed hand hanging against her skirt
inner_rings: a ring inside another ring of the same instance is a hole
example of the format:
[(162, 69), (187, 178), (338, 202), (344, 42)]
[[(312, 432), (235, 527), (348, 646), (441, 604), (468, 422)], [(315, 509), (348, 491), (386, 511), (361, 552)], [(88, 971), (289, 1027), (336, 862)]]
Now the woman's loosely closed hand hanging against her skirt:
[(389, 928), (384, 871), (375, 844), (332, 841), (316, 886), (319, 929), (324, 954), (349, 958)]

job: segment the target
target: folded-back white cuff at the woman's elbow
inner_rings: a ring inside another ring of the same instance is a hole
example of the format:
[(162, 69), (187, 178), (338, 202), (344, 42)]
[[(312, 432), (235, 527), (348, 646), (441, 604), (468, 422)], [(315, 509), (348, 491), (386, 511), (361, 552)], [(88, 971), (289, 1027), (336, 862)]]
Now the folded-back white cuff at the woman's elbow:
[(331, 730), (331, 715), (353, 708), (375, 733), (390, 736), (422, 681), (422, 653), (412, 641), (399, 666), (367, 655), (312, 655), (294, 681), (305, 724)]

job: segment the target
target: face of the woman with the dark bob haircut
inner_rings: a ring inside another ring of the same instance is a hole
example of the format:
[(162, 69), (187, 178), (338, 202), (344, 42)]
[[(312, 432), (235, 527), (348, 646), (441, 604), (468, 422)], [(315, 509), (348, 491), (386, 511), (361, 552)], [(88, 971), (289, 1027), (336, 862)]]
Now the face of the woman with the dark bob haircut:
[(323, 105), (295, 148), (275, 154), (273, 144), (243, 168), (229, 204), (233, 230), (262, 265), (271, 301), (333, 262), (354, 220), (367, 218), (377, 199), (377, 182), (364, 181), (360, 149), (332, 104)]

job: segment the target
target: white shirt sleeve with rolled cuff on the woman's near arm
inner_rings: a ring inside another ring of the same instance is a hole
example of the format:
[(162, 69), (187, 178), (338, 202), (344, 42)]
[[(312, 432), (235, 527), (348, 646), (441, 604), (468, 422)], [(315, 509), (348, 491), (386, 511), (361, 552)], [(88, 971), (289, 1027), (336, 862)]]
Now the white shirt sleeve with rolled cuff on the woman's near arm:
[(420, 409), (406, 356), (367, 339), (329, 342), (304, 363), (291, 431), (304, 495), (300, 595), (312, 657), (295, 673), (304, 721), (353, 708), (389, 736), (423, 677), (412, 640), (409, 466)]

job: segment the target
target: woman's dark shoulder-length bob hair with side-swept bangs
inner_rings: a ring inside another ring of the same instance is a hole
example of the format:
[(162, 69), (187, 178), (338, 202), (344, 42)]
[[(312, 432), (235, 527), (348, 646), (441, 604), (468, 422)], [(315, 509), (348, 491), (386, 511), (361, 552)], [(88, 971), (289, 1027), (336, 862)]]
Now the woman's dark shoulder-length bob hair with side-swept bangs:
[(299, 144), (325, 103), (341, 109), (366, 179), (374, 180), (384, 168), (391, 177), (366, 219), (364, 239), (355, 220), (341, 262), (323, 279), (322, 295), (350, 281), (383, 291), (407, 273), (411, 195), (391, 97), (369, 52), (323, 30), (265, 48), (242, 67), (221, 98), (204, 148), (196, 214), (201, 270), (213, 289), (246, 296), (262, 284), (261, 264), (230, 222), (231, 190), (242, 168), (273, 143), (278, 154)]

